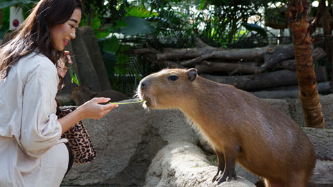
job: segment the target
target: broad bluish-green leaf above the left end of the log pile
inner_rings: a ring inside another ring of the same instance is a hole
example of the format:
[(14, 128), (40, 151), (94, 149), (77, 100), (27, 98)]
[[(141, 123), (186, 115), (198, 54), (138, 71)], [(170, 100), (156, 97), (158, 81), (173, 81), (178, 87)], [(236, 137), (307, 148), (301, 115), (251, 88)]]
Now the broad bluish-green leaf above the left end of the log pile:
[(155, 31), (155, 28), (141, 17), (125, 17), (124, 21), (128, 26), (120, 30), (123, 35), (149, 34)]

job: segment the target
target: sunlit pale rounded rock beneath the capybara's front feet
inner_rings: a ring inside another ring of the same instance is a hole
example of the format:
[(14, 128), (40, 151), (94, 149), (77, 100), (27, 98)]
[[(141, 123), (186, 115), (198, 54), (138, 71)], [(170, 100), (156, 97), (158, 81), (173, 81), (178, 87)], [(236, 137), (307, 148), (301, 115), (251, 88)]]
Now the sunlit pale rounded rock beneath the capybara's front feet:
[(193, 143), (171, 143), (157, 153), (148, 169), (144, 187), (164, 186), (244, 186), (255, 187), (242, 179), (212, 184), (217, 167)]

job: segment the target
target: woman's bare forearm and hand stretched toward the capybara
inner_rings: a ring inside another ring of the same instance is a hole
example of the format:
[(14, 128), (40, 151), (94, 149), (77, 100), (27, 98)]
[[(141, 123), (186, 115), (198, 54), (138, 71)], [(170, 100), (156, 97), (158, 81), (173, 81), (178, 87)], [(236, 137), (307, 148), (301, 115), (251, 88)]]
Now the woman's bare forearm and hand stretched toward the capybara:
[(67, 116), (58, 119), (58, 122), (62, 127), (62, 134), (69, 130), (73, 125), (85, 118), (99, 119), (108, 114), (112, 109), (118, 107), (118, 105), (107, 104), (100, 105), (99, 103), (106, 103), (110, 98), (92, 98), (87, 103), (78, 107), (74, 112), (71, 112)]

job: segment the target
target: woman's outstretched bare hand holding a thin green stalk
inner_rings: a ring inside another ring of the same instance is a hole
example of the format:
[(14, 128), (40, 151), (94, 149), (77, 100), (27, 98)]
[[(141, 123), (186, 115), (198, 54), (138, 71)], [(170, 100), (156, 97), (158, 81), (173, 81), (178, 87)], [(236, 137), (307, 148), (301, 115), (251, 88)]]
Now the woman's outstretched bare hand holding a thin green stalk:
[(110, 100), (110, 98), (92, 98), (88, 100), (85, 104), (78, 107), (80, 111), (81, 118), (91, 118), (91, 119), (99, 119), (108, 114), (112, 109), (118, 107), (118, 105), (106, 104), (101, 105), (99, 103), (106, 103)]

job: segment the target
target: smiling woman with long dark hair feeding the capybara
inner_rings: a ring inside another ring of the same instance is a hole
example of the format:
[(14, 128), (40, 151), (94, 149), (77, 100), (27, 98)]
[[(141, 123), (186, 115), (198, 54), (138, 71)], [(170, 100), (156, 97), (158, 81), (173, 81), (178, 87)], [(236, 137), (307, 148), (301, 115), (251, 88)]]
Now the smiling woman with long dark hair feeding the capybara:
[(80, 19), (80, 0), (42, 0), (0, 46), (0, 186), (60, 186), (69, 165), (61, 134), (117, 107), (99, 105), (109, 98), (94, 98), (56, 116), (55, 98), (67, 71), (64, 49)]

